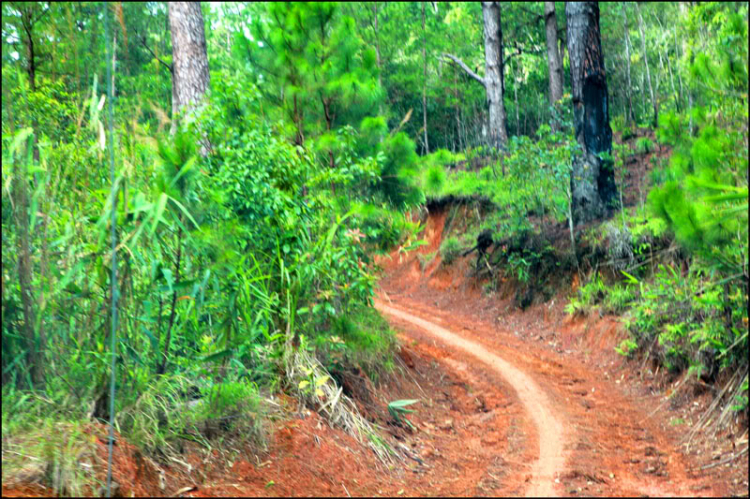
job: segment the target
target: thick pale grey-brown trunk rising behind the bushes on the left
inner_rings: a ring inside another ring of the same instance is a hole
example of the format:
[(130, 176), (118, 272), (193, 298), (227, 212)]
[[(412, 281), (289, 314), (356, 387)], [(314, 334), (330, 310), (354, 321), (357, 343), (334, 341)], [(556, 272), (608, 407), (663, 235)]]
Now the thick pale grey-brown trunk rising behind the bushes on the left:
[(176, 118), (201, 102), (210, 75), (201, 4), (169, 2), (167, 6), (172, 36), (172, 115)]

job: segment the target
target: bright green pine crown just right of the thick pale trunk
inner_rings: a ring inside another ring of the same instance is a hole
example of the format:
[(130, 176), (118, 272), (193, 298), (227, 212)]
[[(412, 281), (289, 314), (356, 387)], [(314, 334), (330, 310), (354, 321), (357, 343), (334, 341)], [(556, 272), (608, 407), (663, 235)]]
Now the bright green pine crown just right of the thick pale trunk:
[(252, 33), (255, 43), (238, 36), (264, 96), (293, 123), (294, 142), (317, 140), (315, 149), (334, 167), (337, 130), (377, 114), (375, 51), (330, 2), (266, 4)]

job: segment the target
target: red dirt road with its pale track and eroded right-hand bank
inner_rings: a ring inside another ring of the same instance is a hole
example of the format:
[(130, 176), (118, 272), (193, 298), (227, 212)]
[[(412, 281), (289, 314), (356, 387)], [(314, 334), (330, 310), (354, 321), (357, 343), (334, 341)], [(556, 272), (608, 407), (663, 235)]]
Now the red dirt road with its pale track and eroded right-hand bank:
[[(743, 428), (686, 450), (681, 437), (705, 400), (670, 398), (673, 380), (617, 355), (623, 335), (616, 320), (563, 320), (559, 296), (520, 312), (509, 299), (512, 282), (500, 276), (494, 290), (483, 291), (469, 258), (443, 265), (446, 215), (440, 208), (429, 213), (427, 245), (416, 254), (394, 251), (376, 260), (385, 269), (376, 306), (402, 342), (464, 375), (474, 393), (500, 391), (508, 399), (494, 410), (495, 423), (508, 425), (494, 495), (747, 494), (746, 455), (715, 464), (734, 454), (735, 442), (743, 444)], [(496, 429), (474, 431), (481, 438)]]

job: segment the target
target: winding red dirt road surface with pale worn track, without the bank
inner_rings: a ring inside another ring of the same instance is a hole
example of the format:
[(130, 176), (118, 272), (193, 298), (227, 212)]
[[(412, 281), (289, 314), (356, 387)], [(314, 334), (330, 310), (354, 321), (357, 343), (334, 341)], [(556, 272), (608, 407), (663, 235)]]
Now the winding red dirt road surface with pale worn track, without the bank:
[[(523, 428), (534, 433), (525, 440), (527, 455), (533, 456), (526, 496), (726, 493), (717, 476), (691, 471), (694, 466), (678, 452), (674, 434), (649, 418), (652, 407), (640, 407), (596, 369), (455, 310), (396, 295), (387, 299), (377, 300), (376, 307), (394, 327), (415, 343), (432, 338), (452, 352), (446, 367), (481, 364), (515, 391), (525, 414)], [(423, 335), (417, 337), (414, 328)]]

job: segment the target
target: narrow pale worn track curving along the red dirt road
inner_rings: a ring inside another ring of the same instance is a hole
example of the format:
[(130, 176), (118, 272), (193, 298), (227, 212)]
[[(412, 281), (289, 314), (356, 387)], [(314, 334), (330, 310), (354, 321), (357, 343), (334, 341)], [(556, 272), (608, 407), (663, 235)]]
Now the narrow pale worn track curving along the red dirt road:
[(442, 343), (463, 350), (489, 366), (513, 386), (519, 400), (531, 416), (539, 435), (539, 459), (533, 466), (531, 483), (526, 490), (526, 496), (552, 497), (557, 495), (555, 473), (562, 471), (565, 463), (564, 429), (563, 424), (554, 416), (547, 394), (539, 385), (528, 374), (488, 351), (484, 345), (380, 301), (376, 301), (375, 306), (385, 314), (414, 324)]

